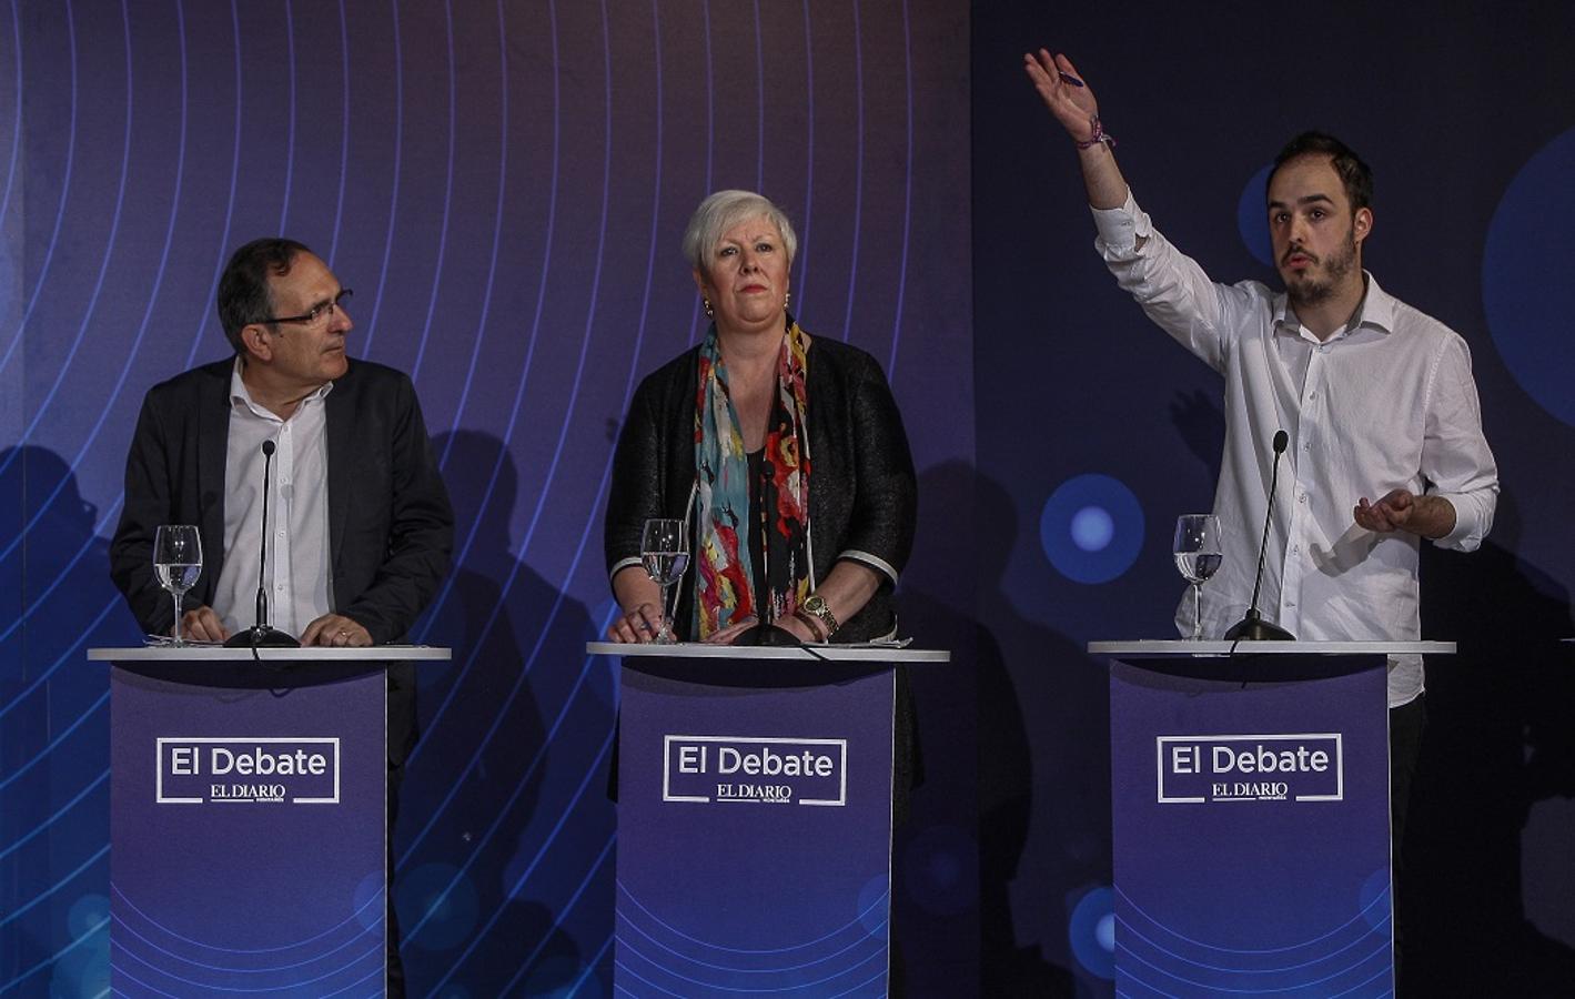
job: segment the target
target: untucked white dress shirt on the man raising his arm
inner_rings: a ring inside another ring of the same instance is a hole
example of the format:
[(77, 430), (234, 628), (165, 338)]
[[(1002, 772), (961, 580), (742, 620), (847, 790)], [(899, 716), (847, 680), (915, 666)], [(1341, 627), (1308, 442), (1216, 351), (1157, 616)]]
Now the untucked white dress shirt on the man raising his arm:
[[(1255, 280), (1211, 282), (1154, 232), (1131, 194), (1125, 206), (1093, 214), (1095, 247), (1120, 285), (1225, 377), (1225, 452), (1214, 492), (1225, 561), (1203, 586), (1203, 635), (1222, 637), (1252, 599), (1273, 440), (1285, 430), (1263, 616), (1298, 638), (1421, 638), (1418, 536), (1359, 528), (1351, 509), (1392, 488), (1443, 496), (1455, 509), (1455, 528), (1435, 544), (1462, 551), (1482, 544), (1498, 470), (1482, 436), (1466, 342), (1366, 273), (1356, 315), (1320, 342), (1284, 293)], [(1192, 632), (1191, 596), (1177, 627)], [(1421, 693), (1421, 657), (1392, 657), (1389, 706)]]

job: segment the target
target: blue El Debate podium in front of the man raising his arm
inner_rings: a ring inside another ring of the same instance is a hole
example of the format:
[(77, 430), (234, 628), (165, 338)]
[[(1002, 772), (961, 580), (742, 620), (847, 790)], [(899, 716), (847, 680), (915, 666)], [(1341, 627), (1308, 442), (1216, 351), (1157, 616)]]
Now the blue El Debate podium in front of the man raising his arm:
[(1454, 643), (1088, 651), (1114, 660), (1117, 994), (1394, 994), (1384, 662)]

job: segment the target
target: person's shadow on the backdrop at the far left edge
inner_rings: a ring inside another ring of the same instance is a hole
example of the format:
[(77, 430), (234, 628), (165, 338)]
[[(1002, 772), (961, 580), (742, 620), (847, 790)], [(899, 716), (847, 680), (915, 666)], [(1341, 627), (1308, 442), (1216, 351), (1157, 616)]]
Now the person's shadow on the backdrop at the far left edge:
[[(109, 671), (85, 659), (142, 635), (109, 580), (98, 515), (54, 451), (0, 451), (0, 912), (16, 914), (0, 982), (68, 949), (82, 930), (61, 919), (72, 906), (107, 915), (109, 863), (93, 857), (109, 843)], [(107, 938), (87, 952), (60, 964), (57, 988), (107, 986)]]

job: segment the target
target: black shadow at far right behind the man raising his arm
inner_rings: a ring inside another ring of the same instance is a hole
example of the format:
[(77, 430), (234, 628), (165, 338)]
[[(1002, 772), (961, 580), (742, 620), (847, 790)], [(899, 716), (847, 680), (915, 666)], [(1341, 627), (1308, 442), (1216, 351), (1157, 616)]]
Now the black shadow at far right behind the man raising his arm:
[(1567, 867), (1575, 830), (1531, 823), (1539, 802), (1575, 794), (1575, 671), (1561, 641), (1575, 627), (1569, 592), (1520, 550), (1507, 492), (1479, 551), (1422, 545), (1422, 635), (1458, 654), (1427, 662), (1400, 900), (1414, 994), (1567, 996), (1575, 983), (1575, 949), (1532, 919), (1572, 934), (1569, 898), (1547, 895), (1537, 863)]

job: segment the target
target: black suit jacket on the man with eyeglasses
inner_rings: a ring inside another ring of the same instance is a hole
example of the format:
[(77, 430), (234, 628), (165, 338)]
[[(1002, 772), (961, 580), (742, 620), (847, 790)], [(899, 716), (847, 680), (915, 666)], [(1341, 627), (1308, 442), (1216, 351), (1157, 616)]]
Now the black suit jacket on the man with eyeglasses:
[[(169, 633), (170, 596), (153, 574), (164, 523), (202, 531), (203, 572), (187, 607), (211, 603), (224, 566), (224, 473), (230, 373), (216, 361), (153, 386), (126, 457), (126, 504), (110, 542), (110, 577), (143, 630)], [(332, 610), (376, 644), (398, 641), (449, 570), (454, 511), (410, 378), (353, 359), (326, 399), (328, 537)], [(389, 670), (389, 759), (416, 742), (414, 668)]]

